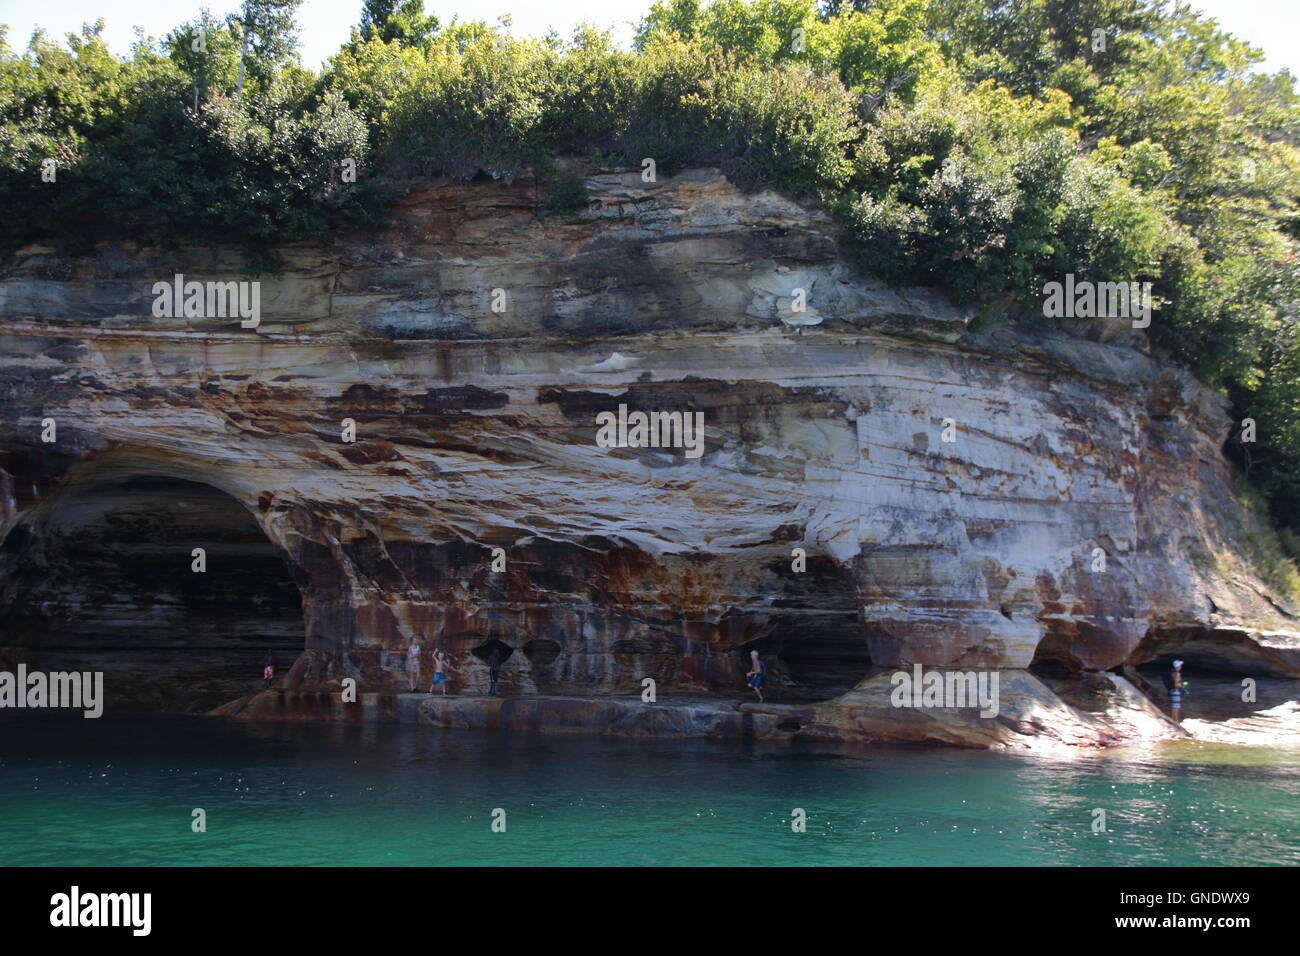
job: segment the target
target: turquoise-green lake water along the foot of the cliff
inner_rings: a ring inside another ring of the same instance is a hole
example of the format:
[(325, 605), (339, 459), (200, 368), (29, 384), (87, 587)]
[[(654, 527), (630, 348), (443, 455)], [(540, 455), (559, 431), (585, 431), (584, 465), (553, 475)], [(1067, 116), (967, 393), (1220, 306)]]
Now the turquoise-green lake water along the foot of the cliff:
[[(207, 832), (191, 832), (191, 810)], [(506, 810), (506, 832), (491, 812)], [(790, 829), (807, 813), (806, 832)], [(1108, 832), (1093, 834), (1093, 809)], [(207, 718), (0, 722), (0, 865), (1297, 865), (1300, 750), (818, 754)]]

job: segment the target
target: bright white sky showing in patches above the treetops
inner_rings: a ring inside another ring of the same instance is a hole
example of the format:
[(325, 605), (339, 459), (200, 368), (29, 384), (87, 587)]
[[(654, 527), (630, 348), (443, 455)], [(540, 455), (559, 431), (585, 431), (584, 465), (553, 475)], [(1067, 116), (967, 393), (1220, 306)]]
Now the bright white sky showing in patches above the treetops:
[[(611, 29), (616, 39), (632, 39), (632, 23), (650, 8), (651, 0), (425, 0), (425, 9), (443, 22), (462, 20), (495, 21), (499, 14), (514, 17), (516, 36), (540, 36), (547, 27), (568, 33), (581, 22)], [(36, 26), (62, 36), (79, 30), (83, 22), (105, 21), (109, 47), (126, 53), (134, 39), (134, 26), (162, 36), (172, 27), (198, 16), (202, 8), (224, 14), (239, 7), (238, 0), (0, 0), (0, 23), (9, 25), (9, 43), (26, 46)], [(1268, 60), (1261, 69), (1290, 69), (1300, 77), (1300, 0), (1192, 0), (1192, 7), (1222, 23), (1228, 33), (1264, 49)], [(320, 66), (347, 40), (348, 27), (360, 18), (361, 0), (304, 0), (298, 10), (302, 57), (308, 66)]]

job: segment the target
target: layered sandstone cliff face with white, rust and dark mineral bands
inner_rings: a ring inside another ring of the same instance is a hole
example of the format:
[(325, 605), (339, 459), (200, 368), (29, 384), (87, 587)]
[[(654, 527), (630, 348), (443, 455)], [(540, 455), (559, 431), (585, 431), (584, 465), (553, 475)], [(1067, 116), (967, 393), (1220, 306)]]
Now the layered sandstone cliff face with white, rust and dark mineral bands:
[[(400, 685), (415, 635), (454, 691), (506, 641), (512, 693), (736, 695), (758, 649), (826, 734), (963, 737), (872, 722), (920, 663), (1043, 675), (1010, 675), (1024, 713), (963, 739), (1032, 736), (1040, 708), (1105, 743), (1134, 724), (1091, 717), (1080, 674), (1199, 641), (1217, 672), (1300, 678), (1297, 609), (1239, 553), (1225, 406), (1134, 333), (976, 333), (850, 269), (820, 213), (712, 170), (588, 186), (564, 220), (532, 181), (415, 193), (385, 233), (283, 250), (256, 328), (152, 313), (176, 273), (244, 278), (229, 250), (25, 250), (0, 281), (21, 622), (0, 645), (176, 630), (159, 606), (205, 605), (143, 592), (176, 593), (202, 546), (233, 605), (177, 644), (300, 626), (304, 692)], [(698, 412), (703, 440), (602, 447), (620, 406)], [(207, 518), (142, 524), (150, 483)], [(117, 567), (87, 581), (109, 531)]]

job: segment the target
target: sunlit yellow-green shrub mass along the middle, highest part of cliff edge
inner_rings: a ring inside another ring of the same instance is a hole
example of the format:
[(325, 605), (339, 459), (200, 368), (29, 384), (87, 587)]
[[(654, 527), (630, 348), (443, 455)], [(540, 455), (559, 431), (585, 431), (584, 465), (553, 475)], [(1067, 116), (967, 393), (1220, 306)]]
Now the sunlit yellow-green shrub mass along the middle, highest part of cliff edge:
[(386, 157), (422, 174), (512, 178), (560, 152), (614, 151), (664, 173), (708, 163), (745, 187), (829, 196), (852, 170), (854, 105), (798, 64), (746, 65), (677, 36), (633, 56), (592, 31), (560, 44), (467, 30), (441, 36), (394, 98)]

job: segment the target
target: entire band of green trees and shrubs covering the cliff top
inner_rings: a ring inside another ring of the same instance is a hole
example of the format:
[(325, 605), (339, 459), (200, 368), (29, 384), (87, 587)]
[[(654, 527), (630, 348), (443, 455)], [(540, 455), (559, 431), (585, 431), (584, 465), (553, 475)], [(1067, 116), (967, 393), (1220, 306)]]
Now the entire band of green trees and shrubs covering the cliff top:
[(1152, 282), (1158, 354), (1257, 420), (1230, 450), (1300, 522), (1300, 100), (1186, 8), (660, 0), (623, 51), (586, 29), (439, 29), (420, 0), (384, 0), (320, 75), (294, 61), (290, 21), (266, 22), (283, 55), (243, 87), (234, 20), (127, 59), (94, 27), (23, 53), (0, 35), (0, 241), (268, 250), (373, 221), (412, 173), (715, 164), (824, 203), (864, 271), (1020, 319), (1043, 320), (1066, 272)]

